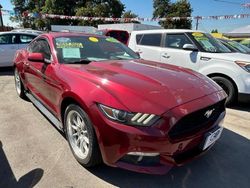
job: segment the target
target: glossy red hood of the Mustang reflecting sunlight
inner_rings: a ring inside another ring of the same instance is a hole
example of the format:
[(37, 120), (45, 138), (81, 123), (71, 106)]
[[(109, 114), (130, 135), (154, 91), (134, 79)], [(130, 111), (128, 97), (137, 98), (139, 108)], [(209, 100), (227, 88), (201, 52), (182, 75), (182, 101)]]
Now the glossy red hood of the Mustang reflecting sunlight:
[(64, 66), (108, 91), (132, 112), (161, 114), (221, 90), (197, 72), (145, 60)]

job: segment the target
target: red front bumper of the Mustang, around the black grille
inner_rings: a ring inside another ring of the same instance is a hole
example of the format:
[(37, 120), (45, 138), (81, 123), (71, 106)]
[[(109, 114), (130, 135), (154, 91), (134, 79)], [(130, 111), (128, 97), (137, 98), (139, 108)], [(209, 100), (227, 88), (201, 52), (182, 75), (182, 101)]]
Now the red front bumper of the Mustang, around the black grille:
[[(225, 111), (213, 124), (200, 129), (195, 134), (172, 139), (169, 137), (169, 130), (185, 115), (225, 99), (223, 93), (215, 93), (178, 106), (163, 114), (162, 119), (151, 127), (133, 127), (110, 121), (97, 106), (93, 105), (91, 119), (103, 161), (110, 166), (132, 171), (164, 174), (173, 166), (182, 165), (199, 156), (205, 152), (201, 149), (205, 134), (221, 124)], [(141, 157), (140, 154), (129, 155), (131, 152), (158, 155)]]

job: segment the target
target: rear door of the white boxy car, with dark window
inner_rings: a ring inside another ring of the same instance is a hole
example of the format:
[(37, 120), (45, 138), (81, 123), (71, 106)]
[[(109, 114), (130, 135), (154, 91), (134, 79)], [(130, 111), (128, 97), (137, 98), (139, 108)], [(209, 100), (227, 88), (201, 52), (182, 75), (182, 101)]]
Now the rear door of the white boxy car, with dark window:
[(142, 59), (160, 62), (162, 34), (137, 34), (136, 35), (136, 49)]

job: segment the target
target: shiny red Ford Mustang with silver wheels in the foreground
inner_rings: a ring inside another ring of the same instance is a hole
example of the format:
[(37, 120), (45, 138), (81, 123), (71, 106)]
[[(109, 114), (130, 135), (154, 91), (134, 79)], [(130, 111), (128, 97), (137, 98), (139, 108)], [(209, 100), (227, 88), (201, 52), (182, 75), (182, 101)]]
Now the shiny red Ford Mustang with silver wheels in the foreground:
[(37, 37), (14, 59), (18, 95), (64, 131), (84, 167), (163, 174), (222, 132), (224, 91), (184, 68), (140, 59), (113, 38)]

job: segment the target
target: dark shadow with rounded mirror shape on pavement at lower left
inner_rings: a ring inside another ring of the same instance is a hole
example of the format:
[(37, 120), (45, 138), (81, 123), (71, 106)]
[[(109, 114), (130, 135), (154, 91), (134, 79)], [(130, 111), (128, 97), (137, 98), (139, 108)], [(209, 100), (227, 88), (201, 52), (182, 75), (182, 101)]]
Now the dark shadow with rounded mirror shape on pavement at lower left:
[(40, 168), (36, 168), (23, 175), (19, 180), (17, 180), (4, 153), (2, 142), (0, 141), (0, 187), (34, 187), (41, 180), (42, 176), (43, 170)]

